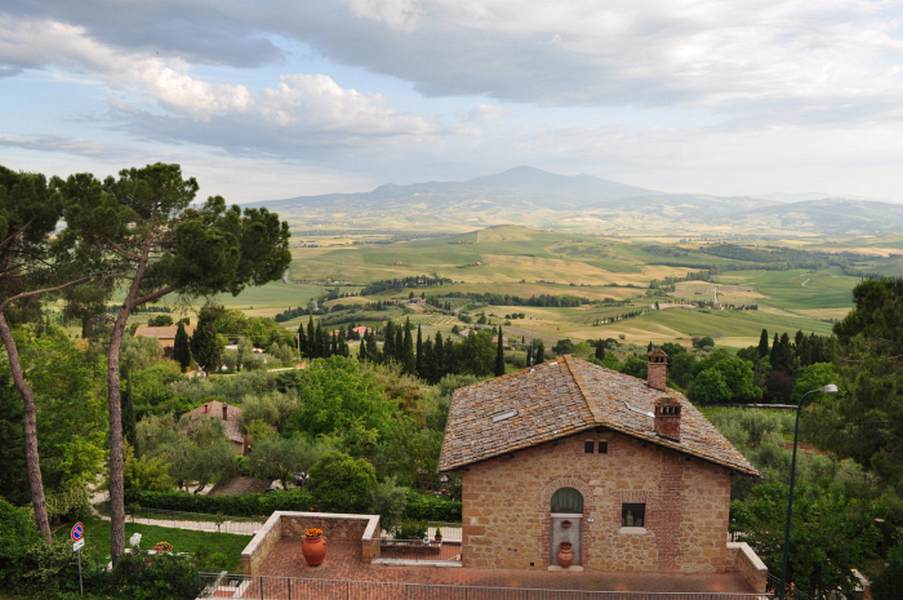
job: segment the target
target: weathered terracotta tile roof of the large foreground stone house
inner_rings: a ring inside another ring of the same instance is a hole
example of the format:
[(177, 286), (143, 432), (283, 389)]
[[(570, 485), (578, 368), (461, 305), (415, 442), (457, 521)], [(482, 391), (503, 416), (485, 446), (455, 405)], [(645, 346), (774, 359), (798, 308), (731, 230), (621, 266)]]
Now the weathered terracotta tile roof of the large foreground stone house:
[[(653, 430), (649, 415), (663, 395), (681, 404), (680, 441)], [(571, 356), (457, 390), (449, 408), (439, 470), (457, 469), (597, 426), (759, 475), (680, 392), (655, 390), (642, 379)]]

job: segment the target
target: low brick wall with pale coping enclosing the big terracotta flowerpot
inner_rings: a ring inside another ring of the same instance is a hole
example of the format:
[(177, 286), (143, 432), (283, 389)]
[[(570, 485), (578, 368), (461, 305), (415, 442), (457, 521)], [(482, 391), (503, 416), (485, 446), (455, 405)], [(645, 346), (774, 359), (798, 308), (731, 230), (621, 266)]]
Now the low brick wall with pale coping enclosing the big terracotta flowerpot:
[(256, 575), (276, 542), (284, 538), (300, 540), (304, 530), (311, 527), (322, 529), (327, 541), (360, 542), (364, 563), (379, 556), (379, 515), (276, 511), (242, 550), (242, 570)]

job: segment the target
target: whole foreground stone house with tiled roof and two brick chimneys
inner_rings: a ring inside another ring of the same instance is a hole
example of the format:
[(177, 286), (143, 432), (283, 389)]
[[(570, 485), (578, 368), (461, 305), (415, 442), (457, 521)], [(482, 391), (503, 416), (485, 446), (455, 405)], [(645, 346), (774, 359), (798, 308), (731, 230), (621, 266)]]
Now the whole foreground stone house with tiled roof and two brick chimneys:
[[(439, 460), (463, 486), (465, 567), (767, 571), (728, 543), (731, 479), (758, 471), (679, 392), (574, 357), (457, 390)], [(742, 546), (742, 548), (741, 548)]]

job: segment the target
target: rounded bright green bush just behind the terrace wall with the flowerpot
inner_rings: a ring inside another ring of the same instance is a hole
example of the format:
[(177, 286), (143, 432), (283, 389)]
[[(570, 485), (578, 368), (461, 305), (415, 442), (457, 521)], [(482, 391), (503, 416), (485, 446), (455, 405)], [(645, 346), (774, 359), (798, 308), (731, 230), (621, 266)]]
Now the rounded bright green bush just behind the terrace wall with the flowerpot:
[(311, 468), (309, 486), (317, 506), (364, 512), (376, 490), (376, 469), (364, 459), (327, 452)]

